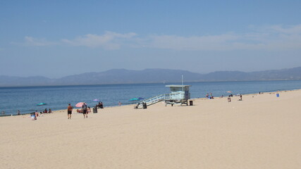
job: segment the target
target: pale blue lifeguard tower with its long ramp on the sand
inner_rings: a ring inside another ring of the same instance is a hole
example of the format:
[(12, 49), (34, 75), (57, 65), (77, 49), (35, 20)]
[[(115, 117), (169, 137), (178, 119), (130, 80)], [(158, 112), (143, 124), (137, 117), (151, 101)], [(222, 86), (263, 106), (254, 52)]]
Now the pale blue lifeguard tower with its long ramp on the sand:
[(190, 99), (189, 87), (191, 87), (191, 85), (166, 85), (166, 87), (170, 87), (170, 94), (159, 94), (158, 96), (153, 96), (149, 99), (140, 101), (138, 106), (142, 106), (142, 103), (150, 106), (160, 101), (165, 101), (165, 106), (167, 106), (167, 104), (171, 104), (171, 106), (173, 106), (173, 104), (180, 104), (181, 106), (182, 104), (186, 104), (188, 106), (188, 99)]

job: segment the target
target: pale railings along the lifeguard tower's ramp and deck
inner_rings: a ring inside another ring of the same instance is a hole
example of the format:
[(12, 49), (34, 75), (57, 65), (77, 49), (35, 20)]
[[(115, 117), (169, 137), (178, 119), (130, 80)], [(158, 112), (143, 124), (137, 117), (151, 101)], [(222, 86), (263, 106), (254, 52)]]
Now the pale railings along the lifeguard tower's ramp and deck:
[[(184, 93), (174, 93), (174, 94), (159, 94), (157, 96), (153, 96), (149, 99), (143, 100), (139, 102), (139, 105), (142, 105), (142, 103), (146, 103), (147, 106), (150, 106), (152, 104), (156, 104), (160, 101), (172, 101), (172, 100), (178, 100), (177, 98), (184, 98)], [(183, 99), (186, 100), (187, 99)]]

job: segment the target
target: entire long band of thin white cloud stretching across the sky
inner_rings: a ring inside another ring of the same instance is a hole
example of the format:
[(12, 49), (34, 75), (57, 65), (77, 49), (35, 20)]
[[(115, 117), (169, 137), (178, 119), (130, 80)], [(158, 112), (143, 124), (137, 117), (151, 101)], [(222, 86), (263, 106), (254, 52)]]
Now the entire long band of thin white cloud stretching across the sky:
[(270, 25), (251, 27), (249, 32), (238, 34), (228, 32), (222, 35), (178, 36), (147, 35), (136, 33), (105, 32), (103, 35), (87, 34), (75, 39), (61, 39), (47, 42), (45, 39), (25, 37), (30, 46), (63, 45), (87, 46), (107, 50), (128, 48), (150, 48), (188, 51), (229, 51), (229, 50), (290, 50), (301, 49), (301, 25)]

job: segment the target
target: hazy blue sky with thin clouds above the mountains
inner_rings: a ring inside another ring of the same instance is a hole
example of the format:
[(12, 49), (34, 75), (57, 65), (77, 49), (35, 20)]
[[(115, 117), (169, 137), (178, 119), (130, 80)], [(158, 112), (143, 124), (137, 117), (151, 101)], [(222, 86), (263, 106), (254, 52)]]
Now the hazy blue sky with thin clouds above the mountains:
[(0, 75), (301, 66), (301, 1), (0, 1)]

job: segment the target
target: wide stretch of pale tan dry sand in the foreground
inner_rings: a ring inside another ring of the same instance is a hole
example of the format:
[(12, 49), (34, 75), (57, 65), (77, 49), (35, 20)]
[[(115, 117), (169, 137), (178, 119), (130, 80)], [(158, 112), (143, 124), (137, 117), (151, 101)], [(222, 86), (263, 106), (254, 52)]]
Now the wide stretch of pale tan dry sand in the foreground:
[(301, 168), (301, 90), (242, 99), (0, 118), (0, 168)]

